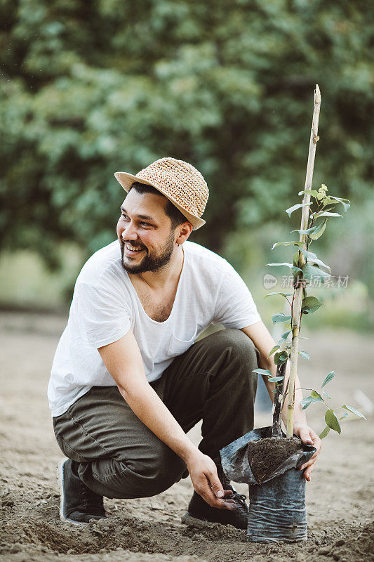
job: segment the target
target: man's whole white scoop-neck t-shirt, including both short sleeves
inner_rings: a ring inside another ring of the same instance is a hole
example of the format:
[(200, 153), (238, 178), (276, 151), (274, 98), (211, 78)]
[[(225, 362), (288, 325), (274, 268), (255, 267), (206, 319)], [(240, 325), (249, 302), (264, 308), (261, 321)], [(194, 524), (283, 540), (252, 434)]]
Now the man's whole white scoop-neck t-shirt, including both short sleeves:
[(149, 382), (192, 346), (208, 325), (243, 328), (261, 320), (245, 283), (229, 263), (199, 244), (185, 242), (185, 258), (171, 315), (156, 322), (145, 313), (121, 265), (119, 241), (85, 263), (74, 289), (48, 384), (53, 416), (66, 412), (92, 386), (115, 386), (98, 348), (131, 328)]

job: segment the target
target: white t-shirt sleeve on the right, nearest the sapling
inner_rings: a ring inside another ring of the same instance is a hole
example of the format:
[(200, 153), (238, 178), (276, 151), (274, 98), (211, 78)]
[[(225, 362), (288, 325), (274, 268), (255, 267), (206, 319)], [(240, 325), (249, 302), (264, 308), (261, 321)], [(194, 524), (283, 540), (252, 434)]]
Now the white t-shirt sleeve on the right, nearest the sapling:
[(250, 290), (239, 273), (225, 261), (225, 273), (218, 291), (212, 323), (222, 324), (227, 328), (241, 329), (260, 322), (260, 320), (261, 317)]

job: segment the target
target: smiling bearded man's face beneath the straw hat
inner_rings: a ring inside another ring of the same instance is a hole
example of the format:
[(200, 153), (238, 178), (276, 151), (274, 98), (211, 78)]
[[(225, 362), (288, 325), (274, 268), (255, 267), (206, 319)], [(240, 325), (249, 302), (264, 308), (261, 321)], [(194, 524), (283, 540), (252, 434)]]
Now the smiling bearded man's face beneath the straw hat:
[(122, 266), (128, 273), (156, 271), (166, 266), (175, 249), (175, 233), (165, 213), (166, 198), (131, 189), (121, 206), (117, 235)]

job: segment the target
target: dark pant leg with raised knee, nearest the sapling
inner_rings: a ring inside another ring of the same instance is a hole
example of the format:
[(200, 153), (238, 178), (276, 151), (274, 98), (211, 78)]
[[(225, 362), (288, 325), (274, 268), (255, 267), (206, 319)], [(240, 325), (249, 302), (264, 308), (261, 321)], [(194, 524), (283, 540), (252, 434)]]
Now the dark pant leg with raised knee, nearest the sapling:
[(239, 329), (196, 341), (163, 373), (163, 402), (185, 431), (203, 420), (199, 449), (215, 461), (253, 429), (260, 352)]

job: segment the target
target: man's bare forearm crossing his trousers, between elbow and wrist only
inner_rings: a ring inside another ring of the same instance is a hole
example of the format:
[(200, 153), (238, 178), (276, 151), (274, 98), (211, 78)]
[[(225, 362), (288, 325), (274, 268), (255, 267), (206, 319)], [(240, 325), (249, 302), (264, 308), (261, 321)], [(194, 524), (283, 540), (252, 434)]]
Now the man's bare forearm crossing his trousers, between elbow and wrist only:
[(119, 386), (119, 391), (140, 421), (185, 462), (198, 452), (147, 381), (136, 381), (126, 388)]

